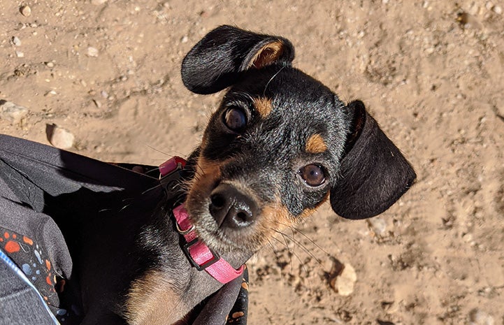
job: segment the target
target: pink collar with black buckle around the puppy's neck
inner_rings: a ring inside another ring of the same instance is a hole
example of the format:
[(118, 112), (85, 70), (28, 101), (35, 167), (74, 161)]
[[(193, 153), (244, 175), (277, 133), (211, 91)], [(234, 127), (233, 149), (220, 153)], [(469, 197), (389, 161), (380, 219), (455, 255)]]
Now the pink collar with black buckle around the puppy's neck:
[[(185, 163), (184, 159), (175, 156), (159, 166), (159, 180), (166, 189), (168, 196), (171, 194), (174, 182), (176, 182), (175, 178), (178, 178), (185, 167)], [(245, 265), (240, 266), (238, 269), (233, 268), (231, 264), (222, 259), (217, 252), (198, 238), (184, 203), (173, 209), (173, 217), (175, 217), (178, 233), (185, 239), (182, 250), (196, 270), (206, 270), (208, 274), (222, 284), (231, 282), (243, 273)]]

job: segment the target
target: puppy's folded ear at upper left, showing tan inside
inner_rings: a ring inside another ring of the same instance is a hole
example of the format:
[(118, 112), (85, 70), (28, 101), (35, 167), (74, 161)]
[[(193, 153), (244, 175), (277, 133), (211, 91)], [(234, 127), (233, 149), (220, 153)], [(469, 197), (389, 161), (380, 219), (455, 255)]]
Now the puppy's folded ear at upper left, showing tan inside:
[(241, 72), (270, 64), (290, 65), (286, 38), (220, 26), (206, 34), (182, 62), (182, 82), (196, 94), (213, 94), (236, 83)]

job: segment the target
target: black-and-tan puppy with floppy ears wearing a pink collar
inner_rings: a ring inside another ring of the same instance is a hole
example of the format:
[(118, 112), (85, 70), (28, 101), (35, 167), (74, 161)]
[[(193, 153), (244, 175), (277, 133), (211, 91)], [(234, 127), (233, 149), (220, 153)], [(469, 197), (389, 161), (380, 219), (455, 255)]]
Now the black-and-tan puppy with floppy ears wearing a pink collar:
[[(145, 210), (110, 194), (85, 221), (58, 210), (88, 213), (87, 192), (46, 198), (73, 259), (67, 286), (80, 293), (81, 324), (183, 324), (275, 233), (322, 203), (364, 219), (412, 187), (415, 171), (364, 104), (343, 103), (293, 59), (286, 38), (217, 27), (182, 62), (190, 91), (227, 91), (187, 159), (179, 195), (145, 196)], [(210, 255), (203, 263), (189, 252), (196, 245)], [(212, 274), (221, 262), (225, 270)]]

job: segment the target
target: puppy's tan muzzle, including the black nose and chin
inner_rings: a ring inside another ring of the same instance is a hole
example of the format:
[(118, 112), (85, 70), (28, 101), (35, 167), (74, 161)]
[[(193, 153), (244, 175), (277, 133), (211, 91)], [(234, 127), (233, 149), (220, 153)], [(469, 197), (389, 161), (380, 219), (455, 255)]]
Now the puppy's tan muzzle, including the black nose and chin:
[(199, 157), (185, 206), (206, 245), (250, 256), (296, 218), (280, 198), (264, 203), (243, 182), (223, 179), (221, 164)]

